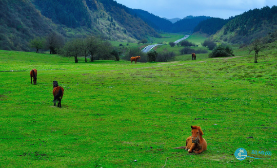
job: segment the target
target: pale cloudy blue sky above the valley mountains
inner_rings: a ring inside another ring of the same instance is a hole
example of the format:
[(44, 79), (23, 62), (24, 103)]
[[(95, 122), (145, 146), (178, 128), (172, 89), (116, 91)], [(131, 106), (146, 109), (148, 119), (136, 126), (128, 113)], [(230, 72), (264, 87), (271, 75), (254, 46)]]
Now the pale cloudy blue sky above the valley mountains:
[(129, 8), (142, 9), (161, 18), (209, 16), (228, 19), (250, 9), (277, 6), (276, 0), (116, 0)]

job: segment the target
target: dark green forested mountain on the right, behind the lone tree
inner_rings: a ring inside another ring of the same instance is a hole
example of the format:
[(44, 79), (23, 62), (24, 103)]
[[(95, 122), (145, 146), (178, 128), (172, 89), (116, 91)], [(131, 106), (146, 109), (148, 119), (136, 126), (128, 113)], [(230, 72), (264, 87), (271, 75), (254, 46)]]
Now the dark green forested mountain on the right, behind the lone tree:
[(249, 10), (226, 23), (212, 39), (231, 43), (250, 43), (277, 30), (277, 6)]

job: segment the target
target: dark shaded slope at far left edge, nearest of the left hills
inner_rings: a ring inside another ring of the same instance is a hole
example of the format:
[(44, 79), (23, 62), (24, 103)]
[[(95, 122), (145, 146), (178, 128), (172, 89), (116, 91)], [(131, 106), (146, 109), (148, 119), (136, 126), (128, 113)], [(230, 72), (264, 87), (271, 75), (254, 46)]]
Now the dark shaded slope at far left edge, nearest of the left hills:
[(58, 31), (51, 20), (23, 0), (0, 0), (0, 49), (28, 51), (28, 40)]

